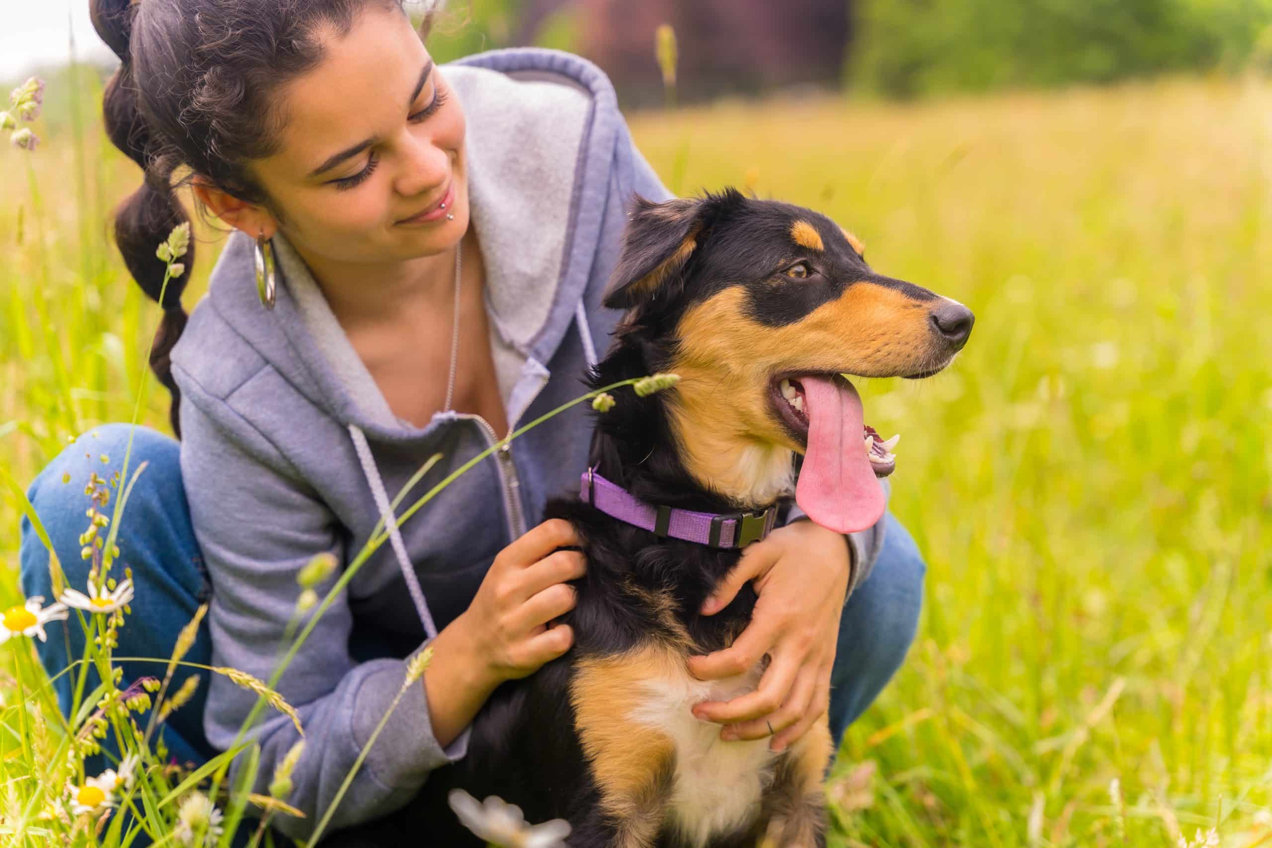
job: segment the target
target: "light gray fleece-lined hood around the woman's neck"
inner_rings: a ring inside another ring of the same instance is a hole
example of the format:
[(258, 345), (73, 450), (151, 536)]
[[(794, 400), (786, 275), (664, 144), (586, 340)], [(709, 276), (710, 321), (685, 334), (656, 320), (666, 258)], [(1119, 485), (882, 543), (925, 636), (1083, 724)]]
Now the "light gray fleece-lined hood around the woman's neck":
[[(616, 112), (604, 75), (576, 57), (510, 50), (443, 66), (468, 123), (466, 146), (473, 226), (486, 267), (486, 305), (500, 394), (510, 423), (542, 385), (575, 319), (599, 242), (599, 216), (580, 206), (609, 189)], [(563, 84), (563, 80), (567, 83)], [(515, 106), (514, 106), (515, 104)], [(514, 108), (510, 108), (514, 107)], [(544, 120), (552, 116), (552, 120)], [(379, 439), (418, 428), (394, 417), (307, 267), (275, 236), (273, 310), (256, 294), (253, 244), (230, 236), (209, 297), (219, 315), (310, 402)], [(178, 343), (174, 360), (215, 351)]]

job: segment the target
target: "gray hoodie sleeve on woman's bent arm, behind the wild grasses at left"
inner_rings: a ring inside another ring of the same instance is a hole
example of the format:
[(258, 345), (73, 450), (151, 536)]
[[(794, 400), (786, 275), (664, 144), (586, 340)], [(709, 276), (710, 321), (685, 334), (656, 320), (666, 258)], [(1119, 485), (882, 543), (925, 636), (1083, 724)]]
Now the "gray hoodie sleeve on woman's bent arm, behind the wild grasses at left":
[[(200, 397), (198, 385), (188, 374), (182, 376), (181, 465), (212, 582), (207, 619), (212, 664), (268, 681), (286, 650), (289, 622), (296, 619), (299, 571), (317, 553), (331, 551), (346, 563), (354, 552), (343, 551), (335, 516), (286, 459), (228, 403)], [(340, 570), (317, 586), (319, 598), (338, 577)], [(299, 617), (296, 632), (314, 612)], [(341, 800), (331, 829), (403, 806), (431, 769), (462, 758), (467, 748), (467, 734), (448, 748), (438, 744), (424, 684), (404, 683), (406, 661), (354, 661), (347, 647), (351, 627), (341, 594), (275, 688), (299, 713), (307, 741), (293, 772), (293, 793), (285, 798), (305, 817), (276, 819), (279, 829), (295, 838), (312, 833), (398, 694), (402, 698)], [(225, 675), (211, 675), (204, 723), (212, 745), (224, 750), (234, 742), (256, 701), (254, 693)], [(266, 707), (248, 737), (261, 745), (256, 791), (266, 792), (279, 763), (301, 736), (290, 718)]]

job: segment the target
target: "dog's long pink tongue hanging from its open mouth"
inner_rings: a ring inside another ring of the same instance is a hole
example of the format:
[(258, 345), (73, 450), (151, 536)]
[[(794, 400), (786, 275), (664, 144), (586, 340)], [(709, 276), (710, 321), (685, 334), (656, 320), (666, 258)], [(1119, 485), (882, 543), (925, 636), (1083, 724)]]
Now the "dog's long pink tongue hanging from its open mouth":
[(861, 397), (846, 380), (801, 376), (808, 450), (795, 502), (810, 519), (838, 533), (874, 526), (887, 506), (866, 456)]

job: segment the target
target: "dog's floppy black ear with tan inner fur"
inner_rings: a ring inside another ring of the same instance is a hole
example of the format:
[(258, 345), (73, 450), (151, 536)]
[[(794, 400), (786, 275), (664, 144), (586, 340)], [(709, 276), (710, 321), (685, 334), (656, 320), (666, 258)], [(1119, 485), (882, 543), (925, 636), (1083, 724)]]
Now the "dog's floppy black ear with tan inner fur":
[(678, 198), (654, 203), (637, 196), (618, 264), (609, 277), (605, 306), (632, 309), (656, 297), (679, 277), (698, 247), (710, 200)]

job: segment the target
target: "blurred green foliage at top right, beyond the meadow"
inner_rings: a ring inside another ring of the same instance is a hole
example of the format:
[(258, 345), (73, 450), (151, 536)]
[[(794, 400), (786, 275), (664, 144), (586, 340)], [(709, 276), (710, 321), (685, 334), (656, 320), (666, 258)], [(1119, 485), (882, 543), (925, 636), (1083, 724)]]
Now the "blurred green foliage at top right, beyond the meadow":
[(1272, 0), (861, 0), (850, 81), (890, 97), (1264, 64)]

